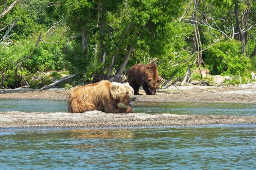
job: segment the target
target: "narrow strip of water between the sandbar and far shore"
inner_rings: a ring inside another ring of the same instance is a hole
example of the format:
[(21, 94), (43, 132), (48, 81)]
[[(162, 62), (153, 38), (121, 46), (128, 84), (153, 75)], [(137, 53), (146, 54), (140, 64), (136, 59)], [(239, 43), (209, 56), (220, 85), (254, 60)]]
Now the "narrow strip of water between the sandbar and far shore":
[[(211, 102), (134, 102), (135, 113), (256, 116), (256, 104)], [(0, 111), (67, 112), (67, 100), (3, 100)]]

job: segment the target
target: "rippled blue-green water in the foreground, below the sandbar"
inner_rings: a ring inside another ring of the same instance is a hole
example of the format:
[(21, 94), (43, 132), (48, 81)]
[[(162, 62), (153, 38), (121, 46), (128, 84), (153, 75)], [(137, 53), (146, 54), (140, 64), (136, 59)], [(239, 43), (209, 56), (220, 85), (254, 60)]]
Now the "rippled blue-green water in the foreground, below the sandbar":
[(256, 125), (0, 130), (0, 169), (248, 169)]

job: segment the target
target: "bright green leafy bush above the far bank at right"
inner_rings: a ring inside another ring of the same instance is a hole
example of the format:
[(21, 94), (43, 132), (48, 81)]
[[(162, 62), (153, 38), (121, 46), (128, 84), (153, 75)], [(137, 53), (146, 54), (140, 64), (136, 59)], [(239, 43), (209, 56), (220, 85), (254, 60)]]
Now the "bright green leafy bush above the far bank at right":
[(244, 75), (250, 59), (241, 54), (238, 41), (218, 42), (204, 52), (204, 61), (212, 75)]

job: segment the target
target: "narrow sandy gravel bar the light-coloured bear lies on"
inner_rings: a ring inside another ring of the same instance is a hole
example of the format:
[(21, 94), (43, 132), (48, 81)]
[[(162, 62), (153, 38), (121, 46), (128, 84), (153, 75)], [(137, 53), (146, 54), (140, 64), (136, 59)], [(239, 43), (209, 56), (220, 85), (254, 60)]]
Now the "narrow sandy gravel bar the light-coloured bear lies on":
[(7, 127), (145, 127), (256, 123), (256, 116), (0, 112), (0, 128)]

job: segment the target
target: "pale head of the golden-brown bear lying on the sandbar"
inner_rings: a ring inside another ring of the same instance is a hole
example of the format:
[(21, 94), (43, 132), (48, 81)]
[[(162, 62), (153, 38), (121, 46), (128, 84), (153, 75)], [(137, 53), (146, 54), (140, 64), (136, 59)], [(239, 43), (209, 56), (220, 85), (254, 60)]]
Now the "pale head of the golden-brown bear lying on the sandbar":
[(113, 99), (118, 103), (123, 103), (124, 105), (133, 106), (131, 101), (136, 100), (134, 96), (134, 90), (131, 88), (128, 82), (121, 84), (119, 82), (111, 82), (112, 88), (110, 93)]

